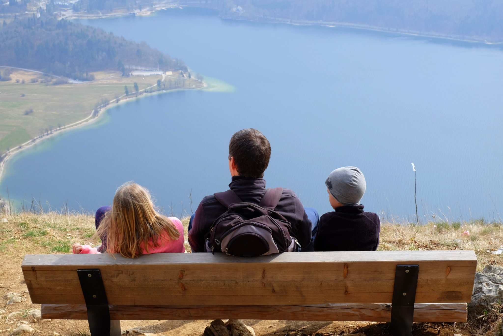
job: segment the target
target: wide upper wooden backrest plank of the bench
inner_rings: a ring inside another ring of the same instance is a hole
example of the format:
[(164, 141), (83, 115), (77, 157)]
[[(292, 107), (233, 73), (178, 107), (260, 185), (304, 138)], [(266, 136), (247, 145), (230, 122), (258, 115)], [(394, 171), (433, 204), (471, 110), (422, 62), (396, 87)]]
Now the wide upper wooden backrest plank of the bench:
[(397, 264), (419, 265), (416, 303), (469, 302), (473, 251), (26, 255), (33, 303), (85, 304), (77, 270), (99, 268), (109, 304), (303, 305), (390, 303)]

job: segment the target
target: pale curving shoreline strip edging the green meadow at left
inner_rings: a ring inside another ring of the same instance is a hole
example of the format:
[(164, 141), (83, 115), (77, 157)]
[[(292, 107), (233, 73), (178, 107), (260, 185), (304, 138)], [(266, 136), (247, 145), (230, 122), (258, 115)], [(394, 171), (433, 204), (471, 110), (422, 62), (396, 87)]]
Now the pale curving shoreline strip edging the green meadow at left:
[[(67, 130), (76, 129), (78, 127), (82, 127), (82, 126), (87, 126), (87, 125), (93, 124), (96, 121), (100, 120), (100, 117), (109, 108), (118, 106), (118, 105), (120, 105), (122, 103), (125, 103), (125, 102), (129, 102), (129, 101), (131, 101), (133, 99), (136, 99), (136, 98), (148, 97), (148, 96), (152, 96), (152, 95), (160, 94), (160, 93), (174, 92), (174, 91), (177, 91), (177, 90), (194, 90), (194, 89), (199, 90), (199, 89), (204, 89), (204, 88), (207, 87), (207, 84), (206, 84), (206, 82), (203, 81), (201, 86), (195, 87), (195, 88), (175, 88), (175, 89), (169, 89), (169, 90), (158, 90), (158, 91), (154, 91), (154, 92), (144, 92), (145, 90), (148, 90), (148, 89), (153, 88), (155, 86), (156, 86), (156, 84), (152, 85), (152, 86), (150, 86), (148, 88), (139, 90), (138, 93), (140, 93), (142, 91), (143, 91), (143, 93), (140, 94), (140, 95), (137, 95), (137, 96), (131, 94), (130, 97), (125, 97), (126, 95), (122, 95), (122, 96), (119, 97), (120, 101), (118, 103), (115, 103), (116, 99), (113, 99), (113, 100), (109, 101), (109, 103), (108, 103), (107, 106), (103, 106), (103, 107), (100, 107), (98, 109), (98, 113), (96, 115), (94, 114), (94, 109), (93, 109), (91, 111), (91, 114), (88, 117), (86, 117), (86, 118), (83, 118), (81, 120), (75, 121), (75, 122), (73, 122), (73, 123), (71, 123), (69, 125), (66, 125), (66, 126), (62, 127), (61, 129), (55, 129), (55, 130), (52, 131), (52, 133), (50, 133), (47, 136), (43, 136), (42, 138), (36, 137), (36, 138), (28, 140), (27, 142), (25, 142), (25, 143), (23, 143), (21, 145), (18, 145), (15, 149), (13, 149), (10, 152), (8, 152), (5, 155), (5, 157), (3, 158), (3, 160), (0, 161), (0, 183), (2, 182), (2, 179), (4, 178), (4, 175), (6, 173), (7, 163), (9, 162), (9, 160), (12, 160), (12, 158), (16, 154), (22, 153), (23, 151), (25, 151), (25, 150), (33, 147), (34, 145), (37, 145), (37, 144), (41, 143), (45, 139), (52, 138), (53, 136), (59, 135), (59, 134), (65, 132)], [(1, 203), (2, 199), (3, 199), (3, 197), (0, 195), (0, 203)]]

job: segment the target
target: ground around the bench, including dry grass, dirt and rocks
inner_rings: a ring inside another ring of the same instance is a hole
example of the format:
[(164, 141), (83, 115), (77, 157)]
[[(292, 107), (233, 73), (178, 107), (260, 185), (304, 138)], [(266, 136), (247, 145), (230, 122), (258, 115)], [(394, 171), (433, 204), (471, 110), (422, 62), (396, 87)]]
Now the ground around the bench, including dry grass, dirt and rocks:
[[(5, 218), (4, 218), (5, 217)], [(184, 220), (187, 225), (187, 219)], [(468, 231), (466, 233), (465, 231)], [(479, 260), (475, 284), (475, 310), (469, 323), (416, 323), (414, 336), (499, 336), (503, 305), (503, 265), (494, 254), (503, 242), (500, 223), (430, 223), (421, 227), (384, 223), (380, 249), (473, 249)], [(41, 320), (40, 305), (32, 304), (21, 272), (25, 254), (70, 253), (73, 242), (93, 243), (94, 217), (81, 214), (0, 215), (0, 336), (62, 335), (86, 336), (86, 320)], [(188, 245), (186, 245), (188, 247)], [(188, 247), (190, 251), (190, 247)], [(486, 265), (490, 265), (485, 267)], [(484, 268), (485, 267), (485, 268)], [(489, 308), (484, 306), (491, 304)], [(480, 310), (480, 313), (477, 311)], [(211, 320), (121, 321), (128, 335), (201, 336)], [(225, 320), (223, 321), (225, 322)], [(224, 325), (223, 322), (213, 322)], [(231, 321), (232, 322), (232, 321)], [(386, 336), (388, 323), (243, 320), (256, 336)], [(235, 336), (231, 327), (220, 328), (218, 336)], [(15, 331), (19, 330), (19, 331)], [(127, 331), (126, 331), (127, 330)], [(211, 330), (210, 330), (211, 331)], [(206, 331), (207, 336), (214, 334)], [(223, 332), (223, 334), (222, 334)], [(242, 334), (242, 333), (241, 333)], [(251, 334), (251, 333), (250, 333)]]

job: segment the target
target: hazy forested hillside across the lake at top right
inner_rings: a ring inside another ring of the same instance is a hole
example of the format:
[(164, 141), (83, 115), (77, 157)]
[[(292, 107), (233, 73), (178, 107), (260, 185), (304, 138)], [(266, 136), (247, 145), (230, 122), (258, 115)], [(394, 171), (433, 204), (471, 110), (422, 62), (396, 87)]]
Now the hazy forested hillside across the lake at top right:
[(339, 23), (503, 41), (503, 2), (500, 0), (180, 0), (179, 3), (211, 7), (231, 19)]

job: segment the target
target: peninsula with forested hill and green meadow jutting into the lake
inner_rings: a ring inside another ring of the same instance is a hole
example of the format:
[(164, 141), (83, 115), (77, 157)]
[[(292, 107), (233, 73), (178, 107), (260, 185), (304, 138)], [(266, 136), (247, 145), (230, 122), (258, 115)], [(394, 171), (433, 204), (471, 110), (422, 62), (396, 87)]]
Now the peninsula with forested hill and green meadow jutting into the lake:
[(173, 89), (204, 86), (146, 43), (48, 15), (0, 26), (0, 178), (15, 153), (107, 107)]

